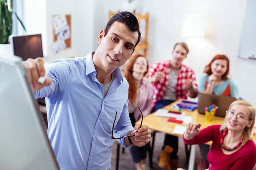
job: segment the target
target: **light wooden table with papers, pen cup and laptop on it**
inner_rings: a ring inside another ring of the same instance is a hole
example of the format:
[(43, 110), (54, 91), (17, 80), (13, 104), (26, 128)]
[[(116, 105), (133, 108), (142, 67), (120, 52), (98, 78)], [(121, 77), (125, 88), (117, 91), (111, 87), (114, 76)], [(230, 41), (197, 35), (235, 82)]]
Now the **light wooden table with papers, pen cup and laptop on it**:
[[(172, 104), (167, 105), (163, 109), (175, 111), (174, 109), (171, 108), (171, 106), (176, 104), (177, 102), (180, 102), (181, 100), (182, 99), (177, 100), (176, 102), (173, 102)], [(212, 123), (206, 122), (204, 114), (198, 113), (197, 109), (193, 112), (190, 112), (190, 111), (182, 111), (182, 112), (185, 112), (186, 116), (192, 116), (192, 122), (201, 123), (201, 129), (204, 129), (205, 127), (208, 127), (210, 125), (222, 125), (224, 121), (224, 117), (215, 116), (214, 122)], [(182, 135), (173, 134), (172, 132), (176, 125), (184, 125), (184, 126), (186, 125), (180, 124), (180, 123), (168, 122), (167, 121), (168, 119), (169, 119), (168, 117), (154, 116), (154, 113), (152, 113), (143, 118), (143, 125), (147, 125), (151, 130), (156, 130), (156, 131), (167, 133), (173, 136), (182, 137)], [(137, 121), (136, 125), (140, 125), (140, 121), (141, 120)], [(253, 141), (256, 143), (256, 138), (253, 138)], [(212, 141), (207, 142), (206, 144), (211, 145)], [(196, 149), (196, 145), (191, 145), (188, 170), (194, 169), (195, 149)]]

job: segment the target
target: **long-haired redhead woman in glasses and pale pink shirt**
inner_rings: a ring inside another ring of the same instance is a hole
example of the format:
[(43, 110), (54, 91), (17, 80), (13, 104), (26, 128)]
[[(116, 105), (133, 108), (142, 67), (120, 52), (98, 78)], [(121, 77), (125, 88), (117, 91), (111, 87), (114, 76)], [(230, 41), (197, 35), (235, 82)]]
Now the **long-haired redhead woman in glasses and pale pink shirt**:
[[(132, 57), (126, 65), (125, 78), (129, 83), (128, 110), (131, 124), (135, 129), (138, 128), (135, 122), (137, 122), (141, 116), (138, 107), (140, 107), (143, 116), (147, 116), (153, 107), (153, 86), (150, 82), (143, 79), (147, 71), (148, 60), (142, 54), (137, 54)], [(143, 147), (133, 146), (130, 148), (131, 156), (137, 170), (148, 169), (145, 165), (147, 150), (147, 144)]]

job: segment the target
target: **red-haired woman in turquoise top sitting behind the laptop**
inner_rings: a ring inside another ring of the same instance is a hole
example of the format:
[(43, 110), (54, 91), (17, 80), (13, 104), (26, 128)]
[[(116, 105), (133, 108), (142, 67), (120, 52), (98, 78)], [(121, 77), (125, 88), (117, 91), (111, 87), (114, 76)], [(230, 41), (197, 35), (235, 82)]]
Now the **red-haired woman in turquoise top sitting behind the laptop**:
[[(239, 99), (239, 91), (236, 82), (229, 77), (230, 61), (223, 54), (215, 55), (204, 68), (204, 75), (199, 79), (198, 91), (201, 93), (231, 96)], [(197, 170), (205, 170), (209, 162), (207, 154), (209, 145), (199, 144), (202, 159)]]

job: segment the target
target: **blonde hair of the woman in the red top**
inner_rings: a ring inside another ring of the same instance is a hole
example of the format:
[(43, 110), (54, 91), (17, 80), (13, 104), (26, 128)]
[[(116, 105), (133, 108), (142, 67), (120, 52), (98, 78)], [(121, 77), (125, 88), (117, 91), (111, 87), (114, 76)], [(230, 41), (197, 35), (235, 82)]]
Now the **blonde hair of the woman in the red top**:
[[(231, 103), (228, 111), (230, 111), (230, 109), (234, 105), (245, 105), (245, 106), (248, 106), (248, 108), (249, 108), (249, 117), (248, 117), (248, 119), (249, 119), (249, 121), (255, 122), (255, 114), (256, 114), (255, 112), (256, 111), (255, 111), (255, 108), (253, 108), (253, 106), (249, 102), (246, 102), (244, 100), (236, 100), (235, 102)], [(227, 119), (227, 116), (225, 117), (224, 122), (221, 125), (220, 133), (223, 133), (224, 131), (227, 130), (226, 119)], [(250, 127), (246, 126), (244, 128), (243, 136), (245, 136), (245, 139), (244, 139), (245, 141), (248, 141), (248, 140), (252, 139), (253, 125), (251, 125)]]

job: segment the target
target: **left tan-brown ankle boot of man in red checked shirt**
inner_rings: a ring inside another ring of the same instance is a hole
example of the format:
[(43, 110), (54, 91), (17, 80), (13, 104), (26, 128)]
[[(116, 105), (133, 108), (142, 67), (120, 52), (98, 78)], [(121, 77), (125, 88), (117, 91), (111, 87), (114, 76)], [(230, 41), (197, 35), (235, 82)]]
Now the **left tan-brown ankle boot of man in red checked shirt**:
[[(173, 152), (173, 148), (170, 147), (169, 145), (166, 145), (164, 150), (161, 151), (160, 155), (158, 156), (158, 166), (161, 168), (165, 168), (169, 170), (171, 167), (169, 160), (170, 160), (170, 155)], [(171, 169), (172, 170), (172, 169)]]

